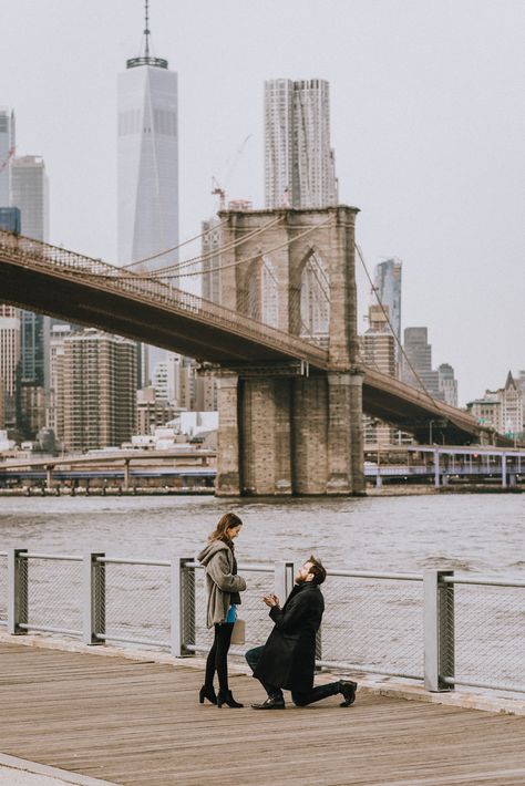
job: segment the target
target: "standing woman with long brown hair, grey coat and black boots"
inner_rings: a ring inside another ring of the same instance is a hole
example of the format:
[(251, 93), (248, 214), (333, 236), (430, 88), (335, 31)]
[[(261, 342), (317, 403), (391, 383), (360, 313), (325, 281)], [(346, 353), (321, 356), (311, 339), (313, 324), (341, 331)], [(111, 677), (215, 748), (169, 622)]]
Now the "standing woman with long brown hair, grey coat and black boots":
[[(240, 594), (246, 589), (246, 581), (237, 576), (234, 540), (240, 532), (243, 521), (234, 513), (227, 513), (218, 520), (207, 546), (197, 559), (206, 571), (206, 590), (208, 596), (207, 627), (215, 629), (214, 643), (206, 660), (206, 676), (200, 689), (199, 702), (207, 699), (212, 704), (222, 707), (241, 707), (231, 695), (228, 686), (228, 650), (236, 616), (236, 607), (240, 603)], [(217, 672), (219, 692), (215, 694), (214, 676)]]

